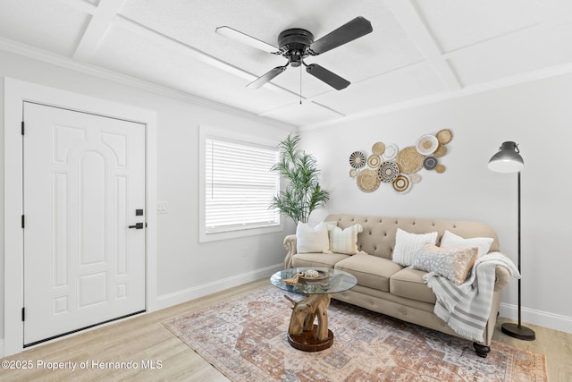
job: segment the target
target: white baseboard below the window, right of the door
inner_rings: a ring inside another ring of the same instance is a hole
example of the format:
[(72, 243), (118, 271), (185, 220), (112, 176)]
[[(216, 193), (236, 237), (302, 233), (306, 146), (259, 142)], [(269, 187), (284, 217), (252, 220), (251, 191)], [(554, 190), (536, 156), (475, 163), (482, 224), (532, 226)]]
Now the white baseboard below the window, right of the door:
[(273, 275), (274, 272), (281, 270), (282, 267), (283, 267), (282, 264), (276, 264), (271, 267), (255, 269), (254, 271), (248, 273), (243, 273), (240, 275), (223, 278), (221, 280), (216, 280), (211, 283), (193, 286), (192, 288), (178, 291), (175, 293), (169, 293), (169, 294), (164, 294), (162, 296), (158, 296), (154, 310), (169, 308), (173, 305), (177, 305), (182, 302), (198, 299), (199, 297), (204, 297), (208, 294), (220, 292), (225, 289), (232, 288), (234, 286), (249, 283), (251, 281), (256, 281), (266, 276), (269, 277)]

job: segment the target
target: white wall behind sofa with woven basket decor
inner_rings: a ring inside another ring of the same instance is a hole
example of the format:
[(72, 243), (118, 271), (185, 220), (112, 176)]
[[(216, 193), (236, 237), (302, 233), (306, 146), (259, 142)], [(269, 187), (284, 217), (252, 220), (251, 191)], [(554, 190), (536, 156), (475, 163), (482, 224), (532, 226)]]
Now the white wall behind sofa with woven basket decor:
[[(522, 177), (523, 321), (572, 332), (569, 250), (572, 214), (572, 74), (417, 106), (302, 132), (315, 155), (327, 213), (479, 220), (492, 225), (501, 250), (517, 262), (517, 174), (498, 174), (487, 162), (501, 142), (514, 140), (525, 160)], [(349, 155), (371, 154), (376, 141), (414, 145), (425, 133), (453, 132), (443, 174), (421, 170), (407, 194), (387, 184), (364, 193), (349, 178)], [(517, 282), (502, 295), (501, 315), (517, 318)]]

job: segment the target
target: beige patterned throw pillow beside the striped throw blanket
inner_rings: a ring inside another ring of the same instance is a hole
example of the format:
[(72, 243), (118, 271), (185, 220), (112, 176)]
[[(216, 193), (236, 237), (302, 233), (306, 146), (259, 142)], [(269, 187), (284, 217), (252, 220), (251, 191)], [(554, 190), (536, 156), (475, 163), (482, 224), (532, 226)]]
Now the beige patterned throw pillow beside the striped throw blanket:
[(467, 280), (468, 273), (475, 265), (477, 251), (476, 248), (440, 248), (425, 244), (411, 267), (434, 272), (460, 285)]

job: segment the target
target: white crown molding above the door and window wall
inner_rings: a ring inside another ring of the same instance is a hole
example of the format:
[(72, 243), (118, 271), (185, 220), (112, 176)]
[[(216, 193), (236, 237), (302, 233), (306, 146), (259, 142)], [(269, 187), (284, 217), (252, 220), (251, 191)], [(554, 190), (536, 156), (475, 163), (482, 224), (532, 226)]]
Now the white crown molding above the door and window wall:
[(250, 113), (246, 110), (239, 109), (237, 107), (224, 105), (219, 102), (194, 96), (192, 94), (185, 93), (179, 90), (167, 88), (152, 82), (139, 80), (134, 77), (110, 71), (95, 65), (82, 64), (77, 61), (73, 61), (70, 58), (65, 57), (63, 55), (56, 55), (54, 53), (47, 52), (46, 50), (39, 49), (37, 47), (29, 47), (28, 45), (21, 44), (19, 42), (13, 41), (8, 38), (0, 37), (0, 50), (4, 50), (6, 52), (13, 53), (15, 55), (22, 55), (24, 57), (38, 60), (46, 64), (53, 64), (55, 66), (60, 66), (75, 72), (82, 72), (84, 74), (98, 77), (103, 80), (114, 81), (116, 83), (126, 85), (131, 88), (145, 90), (150, 93), (154, 93), (156, 95), (177, 99), (183, 102), (188, 102), (196, 106), (206, 107), (221, 113), (239, 116), (241, 118), (245, 118), (257, 123), (264, 123), (266, 125), (271, 125), (273, 127), (277, 127), (283, 130), (292, 131), (297, 127), (289, 123), (282, 123), (280, 121), (276, 121), (271, 118), (259, 116), (254, 113)]

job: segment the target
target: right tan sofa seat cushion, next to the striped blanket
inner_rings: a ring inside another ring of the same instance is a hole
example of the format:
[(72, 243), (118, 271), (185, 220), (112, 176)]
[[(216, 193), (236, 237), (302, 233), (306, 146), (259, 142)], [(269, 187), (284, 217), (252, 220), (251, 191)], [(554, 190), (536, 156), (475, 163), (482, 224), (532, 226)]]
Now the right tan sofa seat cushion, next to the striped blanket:
[(405, 267), (391, 276), (390, 292), (396, 296), (416, 301), (435, 303), (437, 298), (423, 279), (425, 272)]

